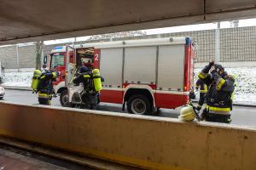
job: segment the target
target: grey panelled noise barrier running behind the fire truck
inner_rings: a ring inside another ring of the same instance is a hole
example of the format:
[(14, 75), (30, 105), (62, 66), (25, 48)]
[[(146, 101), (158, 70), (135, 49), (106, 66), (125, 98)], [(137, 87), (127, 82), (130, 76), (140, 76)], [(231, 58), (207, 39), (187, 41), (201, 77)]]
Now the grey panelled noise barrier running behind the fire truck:
[[(207, 62), (210, 59), (214, 58), (215, 30), (186, 31), (140, 37), (122, 37), (113, 38), (111, 40), (104, 39), (101, 41), (179, 36), (192, 37), (192, 39), (197, 43), (197, 58), (195, 59), (196, 62)], [(55, 45), (46, 45), (43, 48), (43, 52), (44, 54), (49, 54), (50, 50), (55, 46), (65, 44), (62, 43)], [(256, 61), (256, 26), (220, 29), (219, 47), (219, 61)], [(17, 49), (18, 53), (16, 52)], [(16, 69), (17, 67), (33, 68), (36, 65), (36, 48), (34, 45), (23, 46), (19, 48), (16, 48), (15, 46), (0, 47), (0, 59), (3, 65), (5, 65), (5, 68), (7, 69)]]

